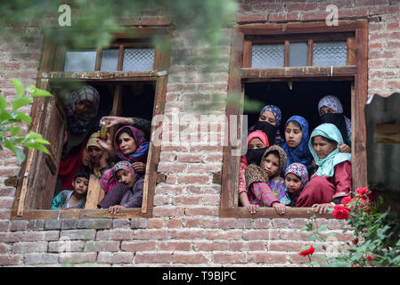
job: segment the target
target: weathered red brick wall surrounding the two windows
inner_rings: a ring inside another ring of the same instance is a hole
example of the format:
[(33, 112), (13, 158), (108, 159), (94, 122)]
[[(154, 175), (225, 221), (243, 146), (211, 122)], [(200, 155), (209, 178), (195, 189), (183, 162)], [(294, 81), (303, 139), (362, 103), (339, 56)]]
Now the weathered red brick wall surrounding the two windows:
[[(241, 1), (240, 23), (325, 20), (329, 1)], [(398, 90), (400, 81), (400, 2), (335, 1), (339, 19), (368, 17), (369, 96), (388, 95)], [(29, 29), (27, 32), (34, 32)], [(175, 50), (168, 70), (166, 115), (192, 115), (193, 108), (206, 103), (210, 94), (226, 96), (229, 73), (231, 29), (224, 31), (220, 58), (212, 69), (184, 64), (179, 55), (199, 53), (183, 49), (184, 33), (174, 33)], [(12, 77), (25, 85), (35, 84), (41, 53), (41, 37), (16, 52), (0, 41), (0, 89), (11, 102)], [(208, 72), (201, 72), (207, 69)], [(29, 114), (30, 110), (26, 110)], [(161, 145), (159, 169), (167, 179), (155, 190), (153, 217), (133, 219), (81, 219), (10, 221), (15, 189), (7, 178), (18, 175), (20, 167), (9, 151), (0, 156), (0, 265), (151, 265), (151, 266), (297, 266), (306, 262), (298, 248), (306, 243), (299, 229), (304, 218), (220, 218), (221, 186), (213, 174), (222, 168), (224, 105), (213, 104), (208, 113), (215, 118), (191, 130), (187, 122), (167, 125)], [(190, 117), (188, 118), (190, 121)], [(202, 127), (204, 126), (204, 127)], [(212, 128), (211, 126), (215, 126)], [(173, 127), (181, 130), (178, 145), (167, 142)], [(195, 136), (212, 136), (208, 144)], [(189, 134), (192, 134), (192, 138)], [(191, 139), (193, 141), (191, 141)], [(337, 232), (333, 243), (351, 239), (342, 234), (342, 223), (318, 219)]]

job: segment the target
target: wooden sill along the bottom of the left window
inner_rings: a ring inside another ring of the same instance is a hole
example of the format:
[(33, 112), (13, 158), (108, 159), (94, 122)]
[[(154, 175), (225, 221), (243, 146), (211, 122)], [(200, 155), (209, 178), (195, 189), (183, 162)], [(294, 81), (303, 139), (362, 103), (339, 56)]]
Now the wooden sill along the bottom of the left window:
[(108, 209), (71, 209), (71, 210), (37, 210), (26, 209), (22, 216), (12, 211), (11, 220), (51, 220), (51, 219), (89, 219), (89, 218), (135, 218), (151, 217), (152, 212), (142, 213), (142, 208), (121, 209), (118, 214), (110, 215)]

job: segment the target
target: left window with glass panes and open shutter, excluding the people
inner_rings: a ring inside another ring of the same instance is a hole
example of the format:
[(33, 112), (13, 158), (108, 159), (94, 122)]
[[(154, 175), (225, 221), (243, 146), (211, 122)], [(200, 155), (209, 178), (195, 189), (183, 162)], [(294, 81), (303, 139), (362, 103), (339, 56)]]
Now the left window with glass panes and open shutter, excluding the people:
[[(83, 82), (101, 94), (100, 105), (113, 115), (150, 119), (164, 113), (169, 57), (151, 45), (152, 35), (170, 37), (169, 28), (134, 28), (135, 36), (115, 35), (110, 47), (71, 50), (45, 39), (37, 86), (50, 90), (53, 98), (36, 98), (32, 106), (31, 128), (51, 142), (50, 154), (29, 151), (20, 168), (12, 219), (87, 218), (110, 216), (96, 209), (103, 191), (91, 175), (85, 209), (49, 210), (61, 160), (66, 119), (58, 95), (62, 88)], [(141, 90), (140, 92), (138, 90)], [(140, 97), (140, 94), (144, 94)], [(127, 106), (131, 106), (127, 109)], [(135, 110), (133, 110), (135, 109)], [(134, 114), (135, 113), (135, 114)], [(151, 134), (158, 126), (151, 126)], [(116, 129), (110, 131), (111, 137)], [(157, 181), (159, 146), (150, 143), (144, 176), (142, 208), (127, 208), (116, 217), (152, 215), (153, 192)], [(90, 199), (89, 199), (90, 195)]]

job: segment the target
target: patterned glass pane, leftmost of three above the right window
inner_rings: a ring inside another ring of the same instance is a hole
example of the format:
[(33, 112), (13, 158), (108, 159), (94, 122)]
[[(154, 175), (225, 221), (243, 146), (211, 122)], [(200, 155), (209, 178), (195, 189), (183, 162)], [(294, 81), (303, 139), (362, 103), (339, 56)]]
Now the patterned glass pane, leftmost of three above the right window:
[(252, 68), (281, 68), (285, 58), (284, 44), (253, 45)]

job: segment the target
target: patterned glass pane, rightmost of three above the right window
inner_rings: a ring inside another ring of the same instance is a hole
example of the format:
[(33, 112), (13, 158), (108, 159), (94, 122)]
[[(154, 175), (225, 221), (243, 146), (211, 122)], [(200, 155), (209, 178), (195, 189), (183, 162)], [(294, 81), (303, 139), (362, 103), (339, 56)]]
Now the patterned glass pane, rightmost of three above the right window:
[(314, 43), (314, 48), (313, 48), (314, 66), (346, 65), (346, 60), (347, 60), (346, 41)]

